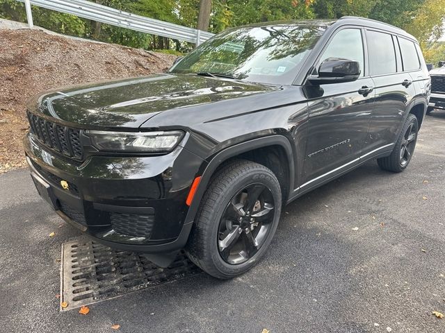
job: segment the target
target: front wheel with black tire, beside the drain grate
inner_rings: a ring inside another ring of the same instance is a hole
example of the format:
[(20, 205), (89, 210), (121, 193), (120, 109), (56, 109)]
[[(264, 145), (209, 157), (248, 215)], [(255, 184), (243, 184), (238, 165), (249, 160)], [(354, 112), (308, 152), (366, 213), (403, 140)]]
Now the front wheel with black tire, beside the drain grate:
[[(258, 198), (252, 199), (259, 191)], [(272, 200), (273, 208), (270, 208)], [(250, 212), (248, 206), (253, 202)], [(229, 162), (213, 176), (201, 200), (186, 254), (215, 278), (241, 275), (266, 253), (280, 220), (281, 207), (280, 183), (272, 171), (247, 160)], [(227, 240), (231, 239), (230, 235), (236, 243)], [(243, 246), (246, 250), (237, 254)]]

